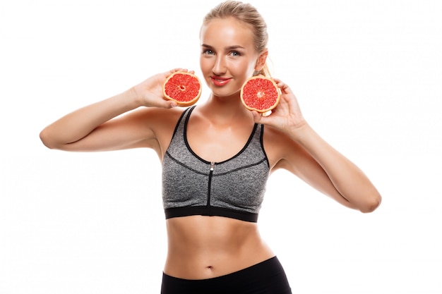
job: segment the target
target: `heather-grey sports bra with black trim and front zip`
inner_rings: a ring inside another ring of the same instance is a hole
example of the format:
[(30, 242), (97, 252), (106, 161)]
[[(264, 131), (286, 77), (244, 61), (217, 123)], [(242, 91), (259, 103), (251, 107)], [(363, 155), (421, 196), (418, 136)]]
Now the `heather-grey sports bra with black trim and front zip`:
[(234, 157), (210, 162), (198, 157), (186, 130), (195, 106), (183, 111), (162, 161), (162, 202), (166, 219), (225, 216), (258, 221), (270, 165), (263, 148), (263, 125), (255, 124)]

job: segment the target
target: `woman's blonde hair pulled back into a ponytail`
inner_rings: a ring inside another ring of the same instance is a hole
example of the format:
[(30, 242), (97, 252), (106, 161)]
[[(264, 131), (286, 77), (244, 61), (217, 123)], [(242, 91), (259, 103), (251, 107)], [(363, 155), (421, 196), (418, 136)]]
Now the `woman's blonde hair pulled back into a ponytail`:
[[(207, 13), (203, 19), (203, 25), (215, 18), (229, 18), (233, 17), (242, 23), (246, 23), (251, 26), (253, 33), (253, 42), (255, 49), (258, 53), (262, 53), (267, 48), (268, 33), (267, 24), (263, 16), (253, 7), (251, 4), (243, 3), (241, 1), (224, 1)], [(267, 62), (261, 69), (261, 71), (255, 71), (253, 75), (265, 75), (270, 77), (270, 71)]]

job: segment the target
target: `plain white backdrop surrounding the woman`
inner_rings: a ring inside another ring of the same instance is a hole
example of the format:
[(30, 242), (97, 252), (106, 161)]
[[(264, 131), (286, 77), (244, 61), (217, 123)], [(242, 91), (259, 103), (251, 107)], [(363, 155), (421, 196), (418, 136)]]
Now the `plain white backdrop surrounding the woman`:
[[(200, 73), (198, 31), (218, 1), (153, 3), (1, 0), (0, 293), (159, 293), (154, 152), (66, 153), (38, 137), (155, 73)], [(293, 293), (442, 293), (442, 2), (252, 4), (274, 75), (383, 195), (361, 214), (273, 174), (258, 223)]]

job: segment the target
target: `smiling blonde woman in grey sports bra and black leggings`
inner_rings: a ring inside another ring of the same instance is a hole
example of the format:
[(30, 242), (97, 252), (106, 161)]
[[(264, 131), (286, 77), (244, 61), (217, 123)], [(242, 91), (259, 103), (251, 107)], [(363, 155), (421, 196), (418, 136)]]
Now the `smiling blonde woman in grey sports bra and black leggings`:
[(381, 196), (315, 133), (281, 80), (275, 79), (282, 97), (270, 116), (242, 106), (246, 79), (268, 75), (266, 25), (253, 6), (218, 5), (204, 18), (200, 38), (201, 71), (211, 90), (205, 104), (182, 109), (164, 99), (163, 82), (181, 71), (174, 69), (73, 111), (40, 137), (66, 151), (157, 152), (168, 237), (162, 293), (291, 293), (256, 224), (269, 173), (286, 169), (361, 212), (376, 209)]

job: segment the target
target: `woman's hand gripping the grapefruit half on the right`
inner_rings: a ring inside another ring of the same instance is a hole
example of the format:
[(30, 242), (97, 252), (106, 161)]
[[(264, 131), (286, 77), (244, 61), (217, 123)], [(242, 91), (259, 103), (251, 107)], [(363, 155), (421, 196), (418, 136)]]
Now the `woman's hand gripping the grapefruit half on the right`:
[(285, 133), (305, 125), (306, 121), (301, 114), (297, 98), (292, 90), (281, 80), (276, 78), (273, 80), (281, 90), (280, 102), (272, 109), (272, 113), (269, 116), (263, 116), (258, 111), (252, 111), (255, 122), (270, 125)]

